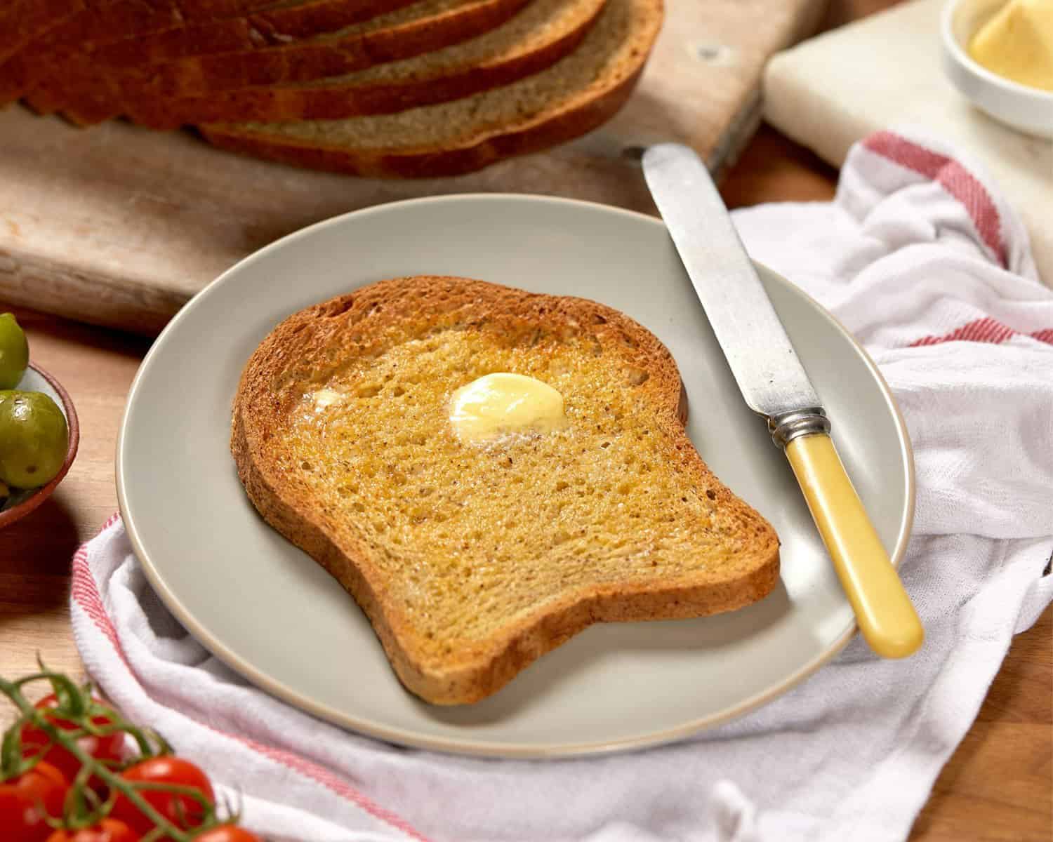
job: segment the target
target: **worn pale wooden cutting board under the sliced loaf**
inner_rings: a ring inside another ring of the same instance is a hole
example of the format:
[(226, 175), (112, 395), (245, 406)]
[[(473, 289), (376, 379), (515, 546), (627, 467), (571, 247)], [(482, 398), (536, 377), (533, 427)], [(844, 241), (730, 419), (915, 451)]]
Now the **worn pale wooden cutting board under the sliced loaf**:
[[(640, 147), (678, 140), (715, 171), (733, 161), (759, 120), (764, 62), (815, 29), (826, 0), (667, 6), (643, 78), (614, 120), (574, 143), (459, 178), (315, 173), (214, 149), (190, 132), (124, 122), (77, 129), (8, 108), (0, 113), (0, 300), (150, 335), (251, 252), (367, 205), (517, 192), (655, 213)], [(493, 222), (479, 220), (480, 237)], [(412, 248), (413, 233), (405, 238)]]

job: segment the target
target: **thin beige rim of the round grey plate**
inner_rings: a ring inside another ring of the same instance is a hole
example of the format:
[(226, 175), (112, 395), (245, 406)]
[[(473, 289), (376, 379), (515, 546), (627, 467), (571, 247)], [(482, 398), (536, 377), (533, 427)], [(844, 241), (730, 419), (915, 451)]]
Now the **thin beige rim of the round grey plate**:
[[(680, 723), (674, 727), (663, 728), (661, 730), (649, 731), (647, 734), (634, 735), (631, 737), (617, 738), (612, 740), (599, 740), (591, 742), (549, 742), (549, 743), (538, 743), (532, 745), (522, 745), (520, 743), (510, 743), (495, 740), (472, 740), (472, 739), (458, 739), (458, 738), (446, 738), (446, 737), (435, 737), (430, 735), (422, 735), (415, 733), (413, 730), (406, 730), (401, 727), (385, 725), (382, 723), (375, 722), (369, 719), (362, 719), (355, 716), (350, 716), (344, 711), (338, 710), (330, 705), (322, 704), (304, 696), (300, 691), (283, 684), (281, 681), (272, 678), (265, 673), (261, 671), (253, 664), (249, 663), (246, 660), (242, 659), (234, 651), (232, 651), (222, 641), (214, 638), (192, 615), (192, 613), (182, 604), (179, 598), (165, 585), (162, 576), (154, 566), (153, 561), (150, 558), (150, 553), (146, 550), (140, 536), (138, 528), (135, 524), (135, 518), (131, 513), (128, 505), (128, 500), (125, 496), (124, 488), (124, 442), (128, 433), (128, 417), (131, 415), (131, 409), (136, 402), (136, 397), (138, 395), (139, 388), (142, 381), (144, 380), (146, 373), (151, 366), (156, 355), (162, 352), (165, 337), (178, 329), (178, 325), (183, 319), (188, 318), (188, 314), (193, 313), (198, 307), (204, 306), (204, 302), (207, 300), (212, 290), (218, 287), (220, 284), (224, 283), (226, 279), (235, 273), (235, 270), (240, 270), (244, 265), (261, 259), (266, 254), (274, 249), (278, 249), (286, 245), (287, 243), (302, 238), (309, 237), (312, 233), (331, 225), (343, 224), (349, 218), (357, 218), (370, 216), (377, 213), (391, 213), (392, 210), (397, 210), (399, 207), (405, 206), (416, 206), (421, 204), (432, 204), (432, 203), (449, 203), (449, 202), (472, 202), (472, 201), (513, 201), (513, 202), (525, 202), (525, 203), (538, 203), (538, 204), (560, 204), (560, 205), (571, 205), (578, 208), (588, 209), (590, 212), (599, 212), (603, 214), (613, 214), (616, 216), (623, 216), (634, 219), (638, 222), (643, 222), (651, 225), (657, 225), (662, 228), (665, 227), (665, 223), (658, 217), (649, 216), (648, 214), (642, 214), (636, 210), (629, 210), (622, 207), (616, 207), (613, 205), (602, 204), (600, 202), (591, 202), (580, 199), (567, 199), (558, 196), (544, 196), (540, 194), (517, 194), (517, 193), (460, 193), (460, 194), (450, 194), (444, 196), (426, 196), (414, 199), (401, 199), (393, 202), (384, 202), (381, 204), (371, 205), (369, 207), (359, 208), (357, 210), (351, 210), (346, 214), (340, 214), (329, 219), (320, 220), (306, 227), (300, 228), (298, 230), (292, 232), (284, 237), (275, 240), (272, 243), (263, 246), (262, 248), (246, 255), (241, 260), (237, 261), (234, 265), (226, 268), (208, 284), (206, 284), (200, 292), (194, 295), (190, 301), (184, 304), (180, 310), (168, 321), (161, 333), (158, 335), (157, 339), (153, 342), (150, 349), (147, 350), (145, 357), (143, 357), (142, 362), (139, 364), (139, 368), (136, 370), (135, 378), (132, 381), (132, 385), (128, 388), (127, 398), (124, 404), (124, 410), (121, 416), (121, 423), (117, 434), (117, 445), (116, 454), (114, 460), (114, 473), (116, 477), (117, 485), (117, 501), (121, 514), (121, 519), (124, 523), (125, 532), (128, 536), (128, 540), (132, 544), (132, 548), (135, 552), (136, 558), (138, 559), (140, 565), (142, 566), (143, 573), (146, 580), (150, 582), (151, 587), (158, 595), (161, 601), (164, 603), (165, 607), (172, 612), (180, 624), (191, 634), (194, 638), (201, 643), (210, 653), (216, 656), (220, 661), (222, 661), (226, 666), (233, 669), (235, 673), (249, 679), (257, 688), (264, 690), (265, 693), (280, 699), (283, 702), (291, 704), (292, 706), (304, 710), (312, 716), (316, 716), (326, 722), (338, 725), (339, 727), (352, 730), (356, 734), (360, 734), (366, 737), (372, 737), (375, 739), (383, 740), (389, 743), (394, 743), (397, 745), (422, 748), (432, 751), (440, 751), (444, 754), (453, 754), (459, 756), (474, 756), (474, 757), (491, 757), (491, 758), (508, 758), (508, 759), (549, 759), (549, 758), (570, 758), (570, 757), (585, 757), (585, 756), (602, 756), (610, 755), (620, 751), (635, 750), (639, 748), (645, 748), (651, 746), (665, 745), (669, 743), (674, 743), (700, 731), (707, 730), (715, 725), (721, 724), (723, 722), (737, 719), (744, 716), (752, 710), (760, 707), (767, 702), (781, 696), (787, 693), (797, 684), (800, 684), (804, 679), (810, 677), (813, 673), (818, 670), (821, 666), (829, 663), (833, 658), (848, 645), (849, 641), (855, 636), (858, 630), (858, 625), (853, 620), (848, 628), (824, 650), (820, 651), (812, 660), (808, 661), (806, 664), (796, 669), (793, 674), (784, 678), (778, 684), (769, 687), (760, 693), (754, 694), (753, 696), (739, 701), (738, 703), (731, 705), (722, 710), (710, 714), (704, 717), (699, 717), (693, 719), (689, 722)], [(758, 264), (762, 265), (762, 264)], [(896, 545), (892, 553), (890, 553), (890, 558), (894, 567), (898, 569), (903, 555), (907, 552), (907, 546), (910, 540), (911, 530), (914, 523), (914, 507), (916, 498), (916, 487), (915, 487), (915, 469), (914, 469), (914, 454), (911, 446), (910, 436), (907, 429), (907, 422), (905, 421), (899, 406), (896, 403), (895, 397), (892, 390), (889, 388), (889, 384), (886, 382), (885, 377), (881, 375), (877, 365), (871, 359), (870, 355), (867, 353), (866, 348), (852, 336), (852, 334), (838, 321), (826, 307), (823, 307), (818, 301), (816, 301), (812, 296), (806, 293), (796, 284), (792, 283), (790, 280), (781, 276), (779, 273), (764, 268), (771, 273), (774, 277), (778, 279), (780, 283), (786, 284), (790, 289), (797, 295), (800, 295), (809, 303), (814, 305), (816, 312), (826, 318), (831, 325), (839, 332), (859, 352), (863, 362), (866, 363), (870, 373), (874, 376), (877, 386), (881, 393), (881, 397), (885, 401), (887, 408), (890, 410), (896, 425), (897, 439), (899, 442), (899, 457), (902, 459), (907, 470), (906, 470), (906, 506), (903, 515), (900, 519), (899, 529), (896, 536)]]

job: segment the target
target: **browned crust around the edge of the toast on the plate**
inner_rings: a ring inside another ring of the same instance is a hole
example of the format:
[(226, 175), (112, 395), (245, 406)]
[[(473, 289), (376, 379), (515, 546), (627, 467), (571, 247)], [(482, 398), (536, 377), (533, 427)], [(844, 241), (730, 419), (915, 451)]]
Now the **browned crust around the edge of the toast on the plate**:
[[(298, 399), (297, 384), (316, 366), (333, 363), (332, 354), (326, 359), (327, 350), (338, 346), (371, 353), (383, 347), (380, 337), (385, 325), (411, 313), (454, 310), (510, 324), (553, 328), (588, 324), (593, 325), (597, 342), (618, 342), (619, 353), (648, 373), (638, 388), (654, 406), (655, 423), (670, 436), (682, 469), (693, 472), (699, 487), (712, 489), (711, 499), (722, 514), (742, 524), (748, 548), (726, 558), (719, 569), (703, 565), (692, 573), (690, 582), (656, 573), (647, 582), (579, 587), (440, 662), (434, 655), (424, 657), (419, 633), (401, 603), (385, 600), (384, 575), (370, 546), (354, 530), (326, 523), (309, 486), (283, 473), (269, 452)], [(366, 317), (367, 327), (360, 324)], [(686, 419), (687, 396), (672, 356), (653, 334), (623, 314), (584, 299), (534, 295), (465, 278), (417, 276), (371, 284), (307, 307), (277, 325), (242, 373), (233, 405), (231, 452), (257, 510), (354, 597), (401, 682), (429, 702), (465, 704), (495, 693), (592, 623), (700, 617), (742, 607), (772, 590), (779, 569), (774, 529), (713, 477), (687, 436)]]

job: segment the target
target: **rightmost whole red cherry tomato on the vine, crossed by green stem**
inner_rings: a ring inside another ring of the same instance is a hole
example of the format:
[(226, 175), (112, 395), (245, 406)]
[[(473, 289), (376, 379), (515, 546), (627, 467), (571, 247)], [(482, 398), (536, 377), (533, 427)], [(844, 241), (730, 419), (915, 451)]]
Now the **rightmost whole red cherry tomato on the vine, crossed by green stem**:
[[(200, 790), (210, 802), (215, 800), (212, 784), (201, 769), (193, 763), (178, 757), (152, 757), (121, 773), (121, 777), (130, 783), (170, 783), (178, 786), (193, 786)], [(190, 796), (166, 793), (161, 789), (140, 789), (139, 795), (165, 819), (177, 827), (190, 829), (197, 827), (204, 819), (201, 805)], [(123, 796), (118, 796), (110, 815), (120, 819), (140, 836), (154, 827), (146, 816)]]

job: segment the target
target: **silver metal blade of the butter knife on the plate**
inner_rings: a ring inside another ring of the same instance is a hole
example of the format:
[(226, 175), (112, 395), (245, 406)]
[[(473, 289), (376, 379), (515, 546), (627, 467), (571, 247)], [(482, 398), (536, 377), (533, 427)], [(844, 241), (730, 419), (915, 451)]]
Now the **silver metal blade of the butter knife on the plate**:
[(650, 146), (643, 177), (747, 405), (769, 419), (819, 407), (819, 395), (699, 157), (679, 143)]

